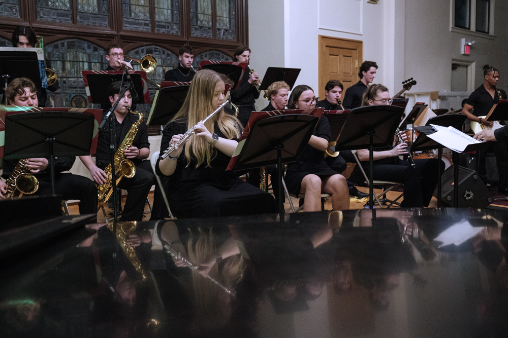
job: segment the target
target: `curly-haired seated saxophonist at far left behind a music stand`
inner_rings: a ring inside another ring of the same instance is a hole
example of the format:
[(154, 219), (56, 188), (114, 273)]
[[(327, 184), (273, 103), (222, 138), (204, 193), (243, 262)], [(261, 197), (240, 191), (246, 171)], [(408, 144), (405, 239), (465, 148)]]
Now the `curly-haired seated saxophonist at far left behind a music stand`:
[[(27, 78), (11, 81), (7, 86), (6, 96), (10, 105), (38, 107), (35, 84)], [(64, 200), (79, 200), (80, 214), (97, 214), (97, 187), (93, 181), (80, 175), (64, 173), (71, 169), (74, 161), (74, 156), (55, 158), (56, 194), (61, 195)], [(4, 160), (2, 176), (5, 179), (11, 176), (17, 163), (17, 160)], [(49, 160), (46, 158), (27, 159), (25, 166), (39, 180), (39, 189), (35, 195), (51, 195)], [(0, 188), (0, 199), (4, 199), (6, 188), (6, 186)]]

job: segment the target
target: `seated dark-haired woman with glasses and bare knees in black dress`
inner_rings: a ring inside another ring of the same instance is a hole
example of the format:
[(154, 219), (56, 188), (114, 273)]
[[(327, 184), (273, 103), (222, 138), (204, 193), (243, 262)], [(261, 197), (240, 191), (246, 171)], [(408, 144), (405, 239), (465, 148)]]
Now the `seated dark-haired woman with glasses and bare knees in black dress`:
[[(316, 104), (314, 91), (309, 86), (293, 88), (288, 109), (313, 109)], [(349, 209), (349, 194), (344, 176), (331, 169), (325, 162), (325, 150), (330, 142), (330, 124), (325, 116), (317, 123), (309, 143), (296, 162), (290, 163), (285, 183), (291, 194), (305, 194), (303, 211), (320, 211), (321, 194), (331, 194), (333, 210)]]

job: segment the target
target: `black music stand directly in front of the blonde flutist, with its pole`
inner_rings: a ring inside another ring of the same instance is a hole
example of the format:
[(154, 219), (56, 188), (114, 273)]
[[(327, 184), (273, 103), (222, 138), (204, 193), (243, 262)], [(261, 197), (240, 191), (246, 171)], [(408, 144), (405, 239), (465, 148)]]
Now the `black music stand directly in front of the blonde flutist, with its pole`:
[(238, 155), (234, 171), (277, 164), (279, 214), (282, 220), (282, 164), (295, 162), (319, 121), (313, 115), (277, 115), (256, 121)]

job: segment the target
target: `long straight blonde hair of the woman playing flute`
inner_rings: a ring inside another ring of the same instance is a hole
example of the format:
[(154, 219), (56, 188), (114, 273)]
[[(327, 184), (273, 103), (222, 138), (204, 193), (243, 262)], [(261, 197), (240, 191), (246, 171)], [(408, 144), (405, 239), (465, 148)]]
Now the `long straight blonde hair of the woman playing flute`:
[[(215, 92), (216, 84), (222, 81), (218, 73), (213, 70), (203, 69), (196, 73), (190, 83), (189, 91), (182, 107), (177, 112), (171, 122), (187, 122), (187, 130), (194, 127), (198, 122), (203, 121), (213, 110), (212, 100)], [(213, 133), (214, 123), (217, 122), (218, 127), (227, 138), (240, 137), (242, 133), (242, 125), (233, 116), (226, 114), (221, 109), (212, 119), (206, 122), (205, 127)], [(217, 155), (215, 147), (208, 144), (201, 137), (193, 137), (187, 142), (185, 147), (185, 158), (187, 166), (190, 164), (193, 154), (196, 158), (196, 168), (206, 162), (206, 166), (210, 166), (210, 162)]]

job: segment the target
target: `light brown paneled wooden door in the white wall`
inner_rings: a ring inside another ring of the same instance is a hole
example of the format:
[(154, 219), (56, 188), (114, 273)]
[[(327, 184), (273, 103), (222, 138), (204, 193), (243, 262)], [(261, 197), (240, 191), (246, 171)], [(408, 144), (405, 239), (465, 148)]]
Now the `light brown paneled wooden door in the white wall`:
[(357, 83), (358, 69), (363, 62), (363, 42), (319, 35), (319, 96), (325, 97), (330, 80), (342, 83), (341, 100), (347, 88)]

